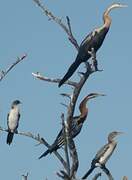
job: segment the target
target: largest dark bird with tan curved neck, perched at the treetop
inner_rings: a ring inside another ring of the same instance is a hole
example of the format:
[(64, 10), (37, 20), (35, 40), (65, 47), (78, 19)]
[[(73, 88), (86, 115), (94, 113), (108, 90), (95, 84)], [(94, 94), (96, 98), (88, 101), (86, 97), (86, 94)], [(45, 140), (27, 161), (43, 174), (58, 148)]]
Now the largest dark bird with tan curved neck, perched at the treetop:
[(97, 50), (101, 47), (101, 45), (105, 39), (105, 36), (106, 36), (107, 32), (109, 31), (111, 22), (112, 22), (112, 20), (109, 16), (110, 11), (112, 9), (122, 8), (122, 7), (126, 7), (126, 5), (115, 3), (106, 9), (106, 11), (103, 14), (104, 24), (101, 27), (94, 29), (82, 41), (82, 43), (79, 47), (79, 50), (78, 50), (77, 57), (76, 57), (75, 61), (73, 62), (73, 64), (68, 69), (67, 73), (64, 75), (64, 77), (59, 82), (59, 85), (58, 85), (59, 87), (62, 84), (64, 84), (73, 75), (73, 73), (76, 71), (76, 69), (79, 67), (79, 65), (82, 62), (86, 62), (91, 57), (90, 52), (92, 51), (92, 48), (94, 49), (94, 52), (96, 53)]

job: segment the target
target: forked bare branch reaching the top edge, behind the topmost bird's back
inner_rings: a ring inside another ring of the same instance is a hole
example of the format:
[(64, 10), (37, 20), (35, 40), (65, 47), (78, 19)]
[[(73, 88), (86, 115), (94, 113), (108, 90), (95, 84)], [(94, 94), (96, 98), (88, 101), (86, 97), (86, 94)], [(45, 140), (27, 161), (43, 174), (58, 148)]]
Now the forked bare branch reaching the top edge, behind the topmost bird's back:
[(70, 25), (70, 19), (67, 16), (67, 23), (68, 23), (68, 27), (62, 22), (62, 19), (56, 17), (53, 15), (52, 12), (50, 12), (43, 4), (40, 0), (33, 0), (43, 11), (43, 13), (50, 19), (53, 20), (55, 23), (57, 23), (68, 35), (68, 39), (70, 40), (70, 42), (74, 45), (74, 47), (78, 50), (79, 49), (79, 45), (76, 41), (76, 39), (73, 36), (73, 33), (71, 31), (71, 25)]

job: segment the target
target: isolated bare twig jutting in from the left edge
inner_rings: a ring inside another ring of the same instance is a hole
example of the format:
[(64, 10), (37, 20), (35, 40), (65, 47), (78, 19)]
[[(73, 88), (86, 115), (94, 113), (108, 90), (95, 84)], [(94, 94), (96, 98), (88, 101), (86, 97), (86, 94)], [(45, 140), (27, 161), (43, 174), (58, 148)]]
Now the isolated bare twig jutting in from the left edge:
[(2, 81), (2, 79), (9, 73), (9, 71), (11, 71), (11, 69), (13, 69), (18, 63), (23, 61), (26, 57), (27, 57), (26, 54), (24, 54), (21, 57), (18, 57), (17, 60), (12, 65), (10, 65), (5, 71), (2, 70), (0, 72), (0, 81)]

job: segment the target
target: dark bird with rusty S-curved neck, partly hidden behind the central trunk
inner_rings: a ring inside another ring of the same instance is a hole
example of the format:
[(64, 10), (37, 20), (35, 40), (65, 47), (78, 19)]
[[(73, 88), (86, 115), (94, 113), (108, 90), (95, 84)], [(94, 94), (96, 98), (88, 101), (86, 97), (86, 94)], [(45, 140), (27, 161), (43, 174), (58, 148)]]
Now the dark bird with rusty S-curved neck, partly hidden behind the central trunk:
[[(81, 101), (81, 103), (79, 105), (80, 115), (73, 117), (73, 120), (72, 120), (72, 128), (71, 128), (72, 138), (75, 138), (80, 133), (82, 126), (83, 126), (83, 123), (87, 118), (87, 115), (88, 115), (88, 108), (86, 107), (87, 101), (92, 99), (92, 98), (96, 98), (98, 96), (104, 96), (104, 94), (91, 93), (91, 94), (87, 95)], [(45, 151), (39, 157), (39, 159), (41, 159), (42, 157), (46, 156), (47, 154), (52, 153), (53, 151), (56, 151), (59, 148), (61, 148), (64, 145), (64, 142), (65, 142), (65, 140), (64, 140), (64, 128), (62, 128), (61, 131), (59, 132), (58, 136), (56, 137), (54, 143), (51, 145), (51, 147), (47, 151)]]

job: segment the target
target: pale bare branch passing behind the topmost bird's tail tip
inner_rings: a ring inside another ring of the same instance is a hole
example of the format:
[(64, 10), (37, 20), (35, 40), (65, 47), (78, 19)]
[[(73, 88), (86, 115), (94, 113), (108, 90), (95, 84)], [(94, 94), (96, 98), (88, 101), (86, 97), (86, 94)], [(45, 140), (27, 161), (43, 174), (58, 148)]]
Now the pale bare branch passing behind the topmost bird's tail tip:
[[(61, 80), (61, 79), (54, 79), (54, 78), (48, 78), (48, 77), (42, 76), (39, 72), (32, 73), (32, 75), (37, 79), (40, 79), (42, 81), (51, 82), (51, 83), (57, 83), (58, 84)], [(73, 82), (73, 81), (67, 81), (67, 82), (65, 82), (65, 84), (68, 84), (70, 86), (76, 86), (77, 85), (77, 83)]]

